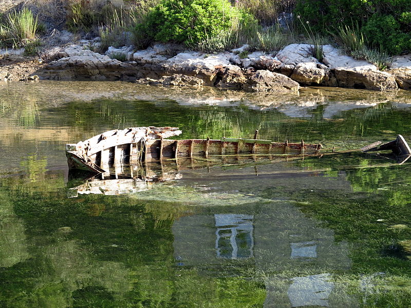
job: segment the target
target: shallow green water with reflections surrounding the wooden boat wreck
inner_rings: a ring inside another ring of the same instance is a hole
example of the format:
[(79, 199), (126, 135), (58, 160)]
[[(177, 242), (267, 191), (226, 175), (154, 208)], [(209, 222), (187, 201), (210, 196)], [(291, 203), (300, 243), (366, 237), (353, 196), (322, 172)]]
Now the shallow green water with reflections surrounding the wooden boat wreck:
[[(113, 128), (355, 149), (401, 133), (411, 94), (299, 97), (125, 83), (0, 87), (1, 307), (409, 307), (411, 164), (365, 154), (209, 164), (68, 198), (66, 143)], [(215, 165), (217, 164), (217, 165)]]

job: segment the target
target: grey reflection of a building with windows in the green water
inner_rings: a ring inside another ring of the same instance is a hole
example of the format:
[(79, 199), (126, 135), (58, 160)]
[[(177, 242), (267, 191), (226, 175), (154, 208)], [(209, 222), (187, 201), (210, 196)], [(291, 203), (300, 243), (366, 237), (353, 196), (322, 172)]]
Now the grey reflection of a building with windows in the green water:
[[(232, 259), (240, 262), (236, 264), (252, 262), (256, 273), (267, 277), (266, 308), (355, 306), (330, 274), (350, 267), (346, 243), (336, 243), (332, 230), (319, 227), (293, 202), (259, 203), (253, 208), (253, 215), (176, 220), (172, 229), (179, 264), (206, 269)], [(239, 211), (244, 210), (239, 205)]]

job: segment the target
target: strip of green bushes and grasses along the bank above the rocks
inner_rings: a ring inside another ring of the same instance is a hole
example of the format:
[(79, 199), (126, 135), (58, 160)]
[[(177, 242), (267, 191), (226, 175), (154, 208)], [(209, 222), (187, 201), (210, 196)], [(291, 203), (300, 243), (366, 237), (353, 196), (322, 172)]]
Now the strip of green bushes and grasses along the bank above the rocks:
[(99, 35), (99, 52), (109, 46), (141, 49), (154, 41), (205, 52), (241, 44), (249, 44), (249, 51), (275, 52), (308, 43), (312, 56), (322, 61), (322, 45), (331, 43), (384, 69), (390, 55), (411, 51), (408, 0), (124, 0), (123, 7), (99, 0), (61, 3), (53, 9), (48, 1), (26, 0), (20, 11), (0, 16), (1, 46), (26, 46), (27, 53), (35, 53), (41, 47), (40, 30), (60, 26), (85, 37)]

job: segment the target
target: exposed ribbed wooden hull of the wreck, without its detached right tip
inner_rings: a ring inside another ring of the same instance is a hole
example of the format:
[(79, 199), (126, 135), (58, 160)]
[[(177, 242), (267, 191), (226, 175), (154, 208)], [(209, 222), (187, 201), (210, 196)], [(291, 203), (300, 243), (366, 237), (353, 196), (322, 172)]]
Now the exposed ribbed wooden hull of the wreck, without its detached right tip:
[(132, 127), (110, 130), (77, 144), (66, 144), (70, 169), (81, 169), (96, 174), (107, 172), (110, 166), (122, 163), (162, 161), (191, 157), (256, 154), (317, 153), (321, 144), (273, 142), (257, 139), (167, 139), (181, 133), (177, 127)]

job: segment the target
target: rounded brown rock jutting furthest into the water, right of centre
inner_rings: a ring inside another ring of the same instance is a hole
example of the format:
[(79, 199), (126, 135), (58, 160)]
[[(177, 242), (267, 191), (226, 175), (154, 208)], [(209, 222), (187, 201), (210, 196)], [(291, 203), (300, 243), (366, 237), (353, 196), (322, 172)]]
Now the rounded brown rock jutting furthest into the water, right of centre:
[(248, 92), (296, 92), (300, 88), (297, 82), (285, 75), (270, 72), (268, 70), (257, 70), (250, 73), (244, 90)]

